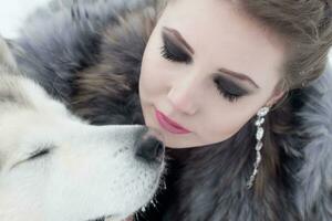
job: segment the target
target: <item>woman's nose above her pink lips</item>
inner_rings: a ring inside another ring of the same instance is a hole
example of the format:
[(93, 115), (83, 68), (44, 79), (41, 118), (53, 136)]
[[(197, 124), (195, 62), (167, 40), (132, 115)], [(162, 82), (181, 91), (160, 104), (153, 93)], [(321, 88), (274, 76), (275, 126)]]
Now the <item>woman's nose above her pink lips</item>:
[(167, 94), (173, 107), (184, 114), (194, 115), (197, 112), (199, 97), (190, 82), (173, 85)]

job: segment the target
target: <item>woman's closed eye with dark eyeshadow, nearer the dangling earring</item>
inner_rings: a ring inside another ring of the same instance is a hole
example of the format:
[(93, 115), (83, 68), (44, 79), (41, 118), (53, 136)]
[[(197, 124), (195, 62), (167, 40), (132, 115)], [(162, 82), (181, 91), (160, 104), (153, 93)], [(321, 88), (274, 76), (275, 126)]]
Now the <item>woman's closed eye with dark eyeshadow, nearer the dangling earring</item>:
[(238, 98), (248, 94), (247, 91), (231, 83), (229, 80), (216, 77), (215, 84), (218, 92), (229, 102), (236, 102)]

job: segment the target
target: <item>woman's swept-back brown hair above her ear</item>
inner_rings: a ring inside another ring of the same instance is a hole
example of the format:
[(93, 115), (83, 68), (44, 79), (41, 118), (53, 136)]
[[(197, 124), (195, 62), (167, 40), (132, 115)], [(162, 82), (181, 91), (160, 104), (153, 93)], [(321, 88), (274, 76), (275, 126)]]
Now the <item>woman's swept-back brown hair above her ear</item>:
[(330, 0), (246, 0), (241, 8), (288, 44), (286, 90), (303, 87), (323, 72), (332, 45)]

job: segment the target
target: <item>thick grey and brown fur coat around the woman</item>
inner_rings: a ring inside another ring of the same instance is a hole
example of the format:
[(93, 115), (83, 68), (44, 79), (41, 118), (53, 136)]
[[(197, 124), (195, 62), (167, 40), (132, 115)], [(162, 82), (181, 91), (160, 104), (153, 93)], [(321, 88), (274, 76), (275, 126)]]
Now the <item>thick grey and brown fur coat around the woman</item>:
[[(153, 0), (74, 1), (37, 11), (10, 44), (22, 72), (91, 124), (144, 124), (137, 83), (155, 22)], [(289, 108), (292, 130), (279, 135), (279, 169), (260, 194), (245, 188), (248, 124), (221, 144), (169, 149), (166, 188), (136, 219), (331, 221), (332, 71), (292, 92)]]

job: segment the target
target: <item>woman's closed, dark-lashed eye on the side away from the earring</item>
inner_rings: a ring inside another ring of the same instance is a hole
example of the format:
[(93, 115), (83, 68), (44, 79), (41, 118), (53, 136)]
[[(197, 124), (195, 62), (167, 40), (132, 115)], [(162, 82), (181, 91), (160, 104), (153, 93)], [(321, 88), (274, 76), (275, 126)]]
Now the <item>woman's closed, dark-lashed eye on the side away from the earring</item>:
[(183, 49), (168, 40), (167, 36), (163, 36), (164, 45), (162, 46), (162, 56), (173, 62), (183, 62), (186, 64), (191, 63), (191, 56), (188, 55)]

